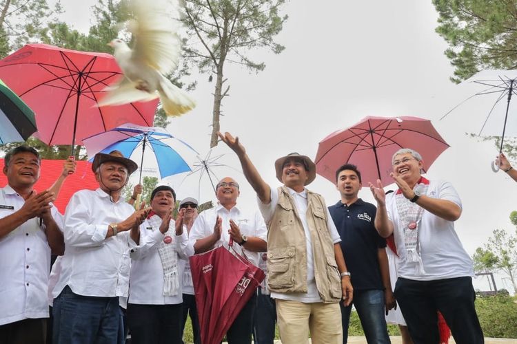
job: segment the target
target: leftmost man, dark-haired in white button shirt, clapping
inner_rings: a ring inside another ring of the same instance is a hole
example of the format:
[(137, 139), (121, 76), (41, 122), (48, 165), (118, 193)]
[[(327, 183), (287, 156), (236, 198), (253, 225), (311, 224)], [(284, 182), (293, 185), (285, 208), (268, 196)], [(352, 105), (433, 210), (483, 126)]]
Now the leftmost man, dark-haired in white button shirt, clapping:
[(11, 149), (4, 159), (8, 185), (0, 189), (0, 343), (45, 343), (50, 253), (65, 250), (63, 220), (37, 193), (41, 159), (32, 147)]

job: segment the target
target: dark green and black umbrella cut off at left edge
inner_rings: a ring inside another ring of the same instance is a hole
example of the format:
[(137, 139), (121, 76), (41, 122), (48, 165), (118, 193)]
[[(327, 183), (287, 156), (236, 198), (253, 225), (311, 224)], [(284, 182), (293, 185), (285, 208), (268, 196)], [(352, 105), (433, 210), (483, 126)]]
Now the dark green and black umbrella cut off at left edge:
[(34, 112), (0, 80), (0, 144), (25, 141), (36, 130)]

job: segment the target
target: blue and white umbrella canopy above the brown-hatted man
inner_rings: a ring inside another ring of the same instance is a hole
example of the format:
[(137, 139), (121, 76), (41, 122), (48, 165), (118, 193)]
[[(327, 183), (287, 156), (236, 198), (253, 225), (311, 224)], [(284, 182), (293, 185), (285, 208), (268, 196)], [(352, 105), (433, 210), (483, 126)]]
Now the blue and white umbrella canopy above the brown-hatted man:
[(90, 158), (99, 152), (110, 153), (115, 149), (121, 151), (126, 158), (130, 158), (135, 151), (141, 151), (140, 178), (146, 149), (154, 153), (162, 179), (176, 173), (191, 171), (190, 166), (178, 153), (179, 147), (172, 147), (171, 144), (197, 154), (189, 144), (174, 138), (163, 128), (143, 127), (132, 123), (125, 123), (110, 131), (90, 136), (83, 139), (83, 142)]

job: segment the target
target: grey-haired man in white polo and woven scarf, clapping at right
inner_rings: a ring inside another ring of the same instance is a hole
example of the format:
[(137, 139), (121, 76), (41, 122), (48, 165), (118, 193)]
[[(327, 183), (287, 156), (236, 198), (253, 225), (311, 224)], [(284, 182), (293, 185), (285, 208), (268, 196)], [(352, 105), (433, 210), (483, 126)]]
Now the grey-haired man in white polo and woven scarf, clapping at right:
[(375, 227), (393, 233), (398, 263), (395, 298), (414, 343), (438, 343), (438, 311), (456, 343), (484, 343), (472, 287), (472, 259), (454, 230), (461, 200), (449, 182), (421, 175), (422, 156), (399, 149), (392, 158), (398, 186), (386, 195), (381, 180), (370, 189), (377, 201)]

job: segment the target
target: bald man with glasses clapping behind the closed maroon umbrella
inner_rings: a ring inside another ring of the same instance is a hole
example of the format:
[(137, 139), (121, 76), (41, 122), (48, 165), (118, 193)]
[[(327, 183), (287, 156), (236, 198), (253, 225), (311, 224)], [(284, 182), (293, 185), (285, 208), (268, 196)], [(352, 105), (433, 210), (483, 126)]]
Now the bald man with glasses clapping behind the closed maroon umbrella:
[[(245, 255), (252, 264), (259, 265), (259, 253), (267, 249), (266, 227), (258, 211), (245, 211), (237, 206), (239, 184), (229, 177), (223, 178), (216, 186), (219, 203), (212, 209), (203, 211), (190, 232), (196, 253), (212, 250), (217, 246), (228, 246), (230, 238), (233, 248)], [(253, 312), (256, 295), (247, 301), (226, 333), (229, 344), (252, 342)]]

